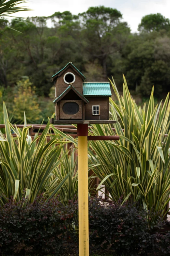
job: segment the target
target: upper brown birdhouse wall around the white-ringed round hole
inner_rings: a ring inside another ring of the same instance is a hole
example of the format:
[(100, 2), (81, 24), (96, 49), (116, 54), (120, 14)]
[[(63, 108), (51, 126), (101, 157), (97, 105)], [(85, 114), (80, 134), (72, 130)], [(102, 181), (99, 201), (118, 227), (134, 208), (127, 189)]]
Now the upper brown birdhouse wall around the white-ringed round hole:
[(74, 88), (80, 92), (81, 94), (83, 94), (83, 80), (81, 78), (80, 75), (78, 75), (78, 73), (73, 70), (73, 68), (71, 67), (68, 67), (64, 72), (61, 73), (61, 75), (59, 77), (57, 77), (56, 79), (56, 98), (61, 95), (61, 93), (63, 91), (65, 91), (69, 84), (65, 83), (64, 81), (64, 75), (67, 73), (67, 72), (71, 72), (75, 75), (76, 79), (75, 79), (75, 82), (72, 83), (72, 85), (74, 86)]

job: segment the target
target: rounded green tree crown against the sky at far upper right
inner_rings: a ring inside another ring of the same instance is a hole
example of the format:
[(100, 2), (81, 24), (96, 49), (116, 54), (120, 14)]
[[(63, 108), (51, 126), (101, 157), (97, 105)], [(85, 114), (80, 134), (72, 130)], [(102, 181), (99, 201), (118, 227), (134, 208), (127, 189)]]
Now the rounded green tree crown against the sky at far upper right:
[(159, 31), (160, 29), (170, 30), (169, 19), (165, 18), (161, 13), (144, 16), (138, 26), (140, 32)]

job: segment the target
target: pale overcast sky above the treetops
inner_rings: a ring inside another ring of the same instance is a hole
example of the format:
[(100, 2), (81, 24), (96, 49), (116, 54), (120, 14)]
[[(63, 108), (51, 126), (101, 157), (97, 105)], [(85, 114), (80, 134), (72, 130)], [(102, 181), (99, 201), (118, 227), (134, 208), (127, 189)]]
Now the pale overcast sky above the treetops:
[(123, 14), (132, 32), (136, 32), (143, 16), (160, 12), (170, 19), (170, 0), (32, 0), (26, 4), (33, 11), (20, 12), (17, 16), (50, 16), (56, 11), (73, 14), (86, 11), (91, 6), (104, 5), (116, 8)]

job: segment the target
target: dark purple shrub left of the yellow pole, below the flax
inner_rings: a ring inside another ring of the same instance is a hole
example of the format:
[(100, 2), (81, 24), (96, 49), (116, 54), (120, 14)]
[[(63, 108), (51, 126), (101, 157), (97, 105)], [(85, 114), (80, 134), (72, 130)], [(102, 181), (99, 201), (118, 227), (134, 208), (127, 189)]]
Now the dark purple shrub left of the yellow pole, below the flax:
[(24, 202), (23, 199), (14, 203), (11, 199), (0, 206), (0, 253), (60, 255), (72, 234), (69, 227), (74, 221), (77, 202), (64, 206), (57, 199), (46, 202), (43, 196), (25, 207)]

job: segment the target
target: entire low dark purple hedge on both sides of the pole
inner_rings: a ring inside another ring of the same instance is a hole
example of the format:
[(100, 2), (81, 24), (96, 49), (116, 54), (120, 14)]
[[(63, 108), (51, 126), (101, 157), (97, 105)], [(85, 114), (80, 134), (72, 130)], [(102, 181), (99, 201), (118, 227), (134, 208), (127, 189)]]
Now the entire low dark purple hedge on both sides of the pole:
[[(136, 205), (89, 200), (89, 246), (98, 254), (170, 255), (170, 233), (148, 228), (146, 211)], [(0, 255), (78, 255), (78, 201), (64, 205), (43, 196), (32, 204), (10, 199), (0, 206)]]

